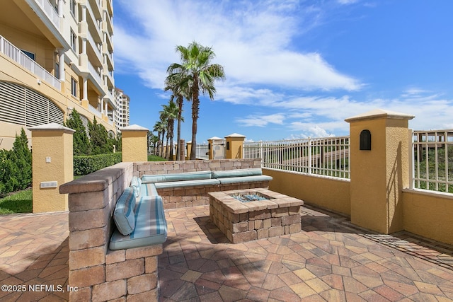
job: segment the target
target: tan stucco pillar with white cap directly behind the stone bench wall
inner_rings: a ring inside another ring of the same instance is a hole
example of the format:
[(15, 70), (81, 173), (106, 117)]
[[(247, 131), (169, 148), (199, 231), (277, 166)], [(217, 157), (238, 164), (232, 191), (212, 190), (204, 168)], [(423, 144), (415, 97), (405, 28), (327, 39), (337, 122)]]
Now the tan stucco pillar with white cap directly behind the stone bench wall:
[(149, 129), (132, 124), (120, 128), (122, 161), (148, 161)]

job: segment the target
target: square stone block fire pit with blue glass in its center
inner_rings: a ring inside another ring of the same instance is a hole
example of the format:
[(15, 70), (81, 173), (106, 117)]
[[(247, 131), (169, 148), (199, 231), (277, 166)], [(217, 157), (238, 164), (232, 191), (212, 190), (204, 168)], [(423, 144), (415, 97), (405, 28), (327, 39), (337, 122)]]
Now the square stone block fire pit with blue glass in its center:
[(300, 199), (262, 188), (208, 194), (210, 218), (231, 243), (301, 231)]

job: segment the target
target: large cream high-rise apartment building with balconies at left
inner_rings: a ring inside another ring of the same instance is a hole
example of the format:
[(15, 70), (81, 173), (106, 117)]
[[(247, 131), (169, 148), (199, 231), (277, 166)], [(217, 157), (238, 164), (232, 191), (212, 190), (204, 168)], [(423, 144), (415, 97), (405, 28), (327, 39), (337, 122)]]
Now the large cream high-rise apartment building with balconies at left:
[(0, 149), (72, 110), (116, 132), (112, 1), (1, 1)]

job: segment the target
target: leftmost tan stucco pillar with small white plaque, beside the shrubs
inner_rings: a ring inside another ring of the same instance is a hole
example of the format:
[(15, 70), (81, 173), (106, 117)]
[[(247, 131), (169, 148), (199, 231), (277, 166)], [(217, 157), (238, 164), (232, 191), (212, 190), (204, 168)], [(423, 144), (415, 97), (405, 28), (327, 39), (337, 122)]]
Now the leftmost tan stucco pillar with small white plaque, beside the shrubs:
[(59, 194), (58, 187), (74, 179), (74, 130), (57, 123), (28, 129), (33, 150), (33, 213), (67, 211), (68, 195)]

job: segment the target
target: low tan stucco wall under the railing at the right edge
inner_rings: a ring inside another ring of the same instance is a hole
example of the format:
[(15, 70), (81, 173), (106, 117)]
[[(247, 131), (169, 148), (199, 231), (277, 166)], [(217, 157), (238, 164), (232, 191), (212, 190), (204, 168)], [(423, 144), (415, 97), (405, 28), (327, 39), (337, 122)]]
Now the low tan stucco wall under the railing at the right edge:
[(406, 231), (453, 245), (453, 194), (403, 190)]

